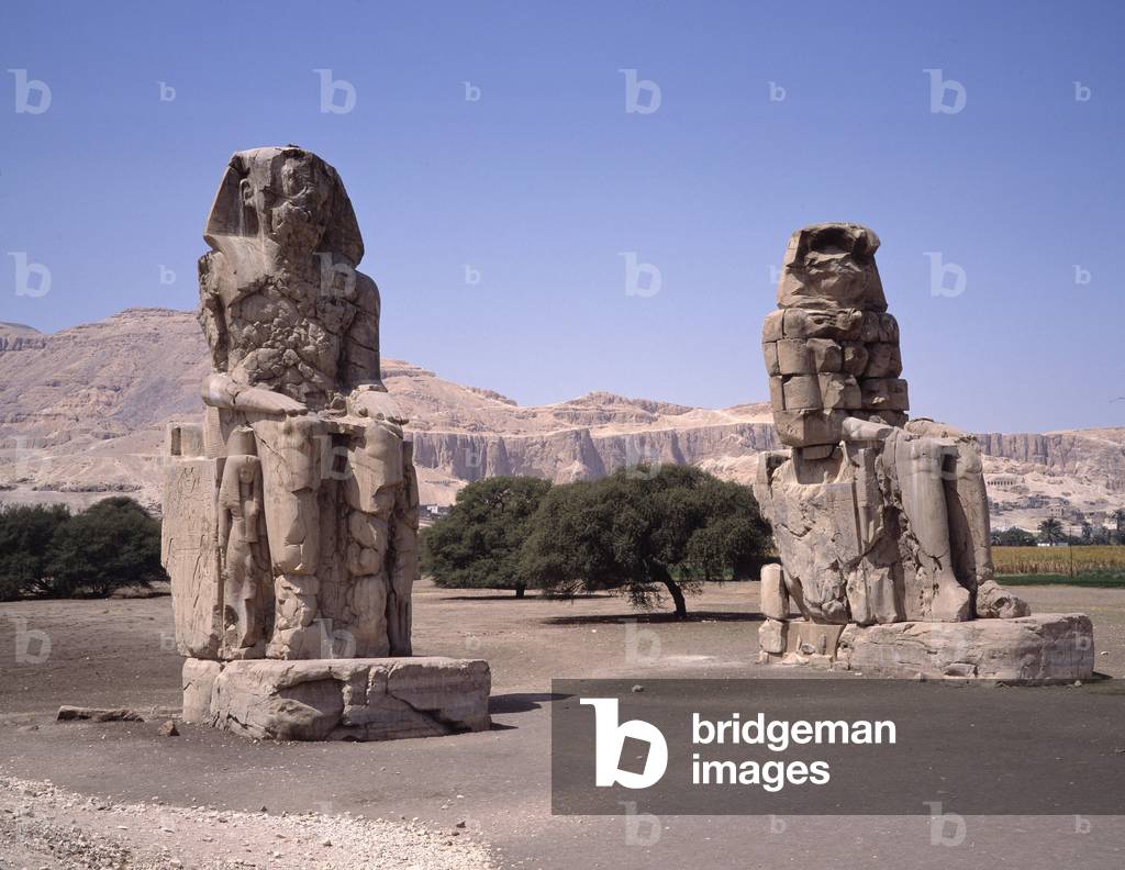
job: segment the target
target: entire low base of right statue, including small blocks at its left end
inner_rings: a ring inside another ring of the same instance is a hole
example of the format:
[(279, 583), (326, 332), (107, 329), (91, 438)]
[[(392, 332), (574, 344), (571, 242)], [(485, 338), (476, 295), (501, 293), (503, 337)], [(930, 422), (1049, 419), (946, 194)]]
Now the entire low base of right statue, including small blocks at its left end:
[(767, 620), (759, 636), (762, 663), (867, 676), (1064, 683), (1094, 675), (1094, 626), (1084, 613), (846, 627)]

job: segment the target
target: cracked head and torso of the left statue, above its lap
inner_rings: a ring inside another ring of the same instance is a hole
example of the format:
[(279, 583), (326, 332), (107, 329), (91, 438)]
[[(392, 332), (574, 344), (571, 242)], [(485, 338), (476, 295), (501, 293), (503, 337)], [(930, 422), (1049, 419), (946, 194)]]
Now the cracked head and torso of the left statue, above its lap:
[(295, 145), (235, 153), (199, 261), (215, 371), (312, 410), (379, 380), (379, 293), (335, 169)]

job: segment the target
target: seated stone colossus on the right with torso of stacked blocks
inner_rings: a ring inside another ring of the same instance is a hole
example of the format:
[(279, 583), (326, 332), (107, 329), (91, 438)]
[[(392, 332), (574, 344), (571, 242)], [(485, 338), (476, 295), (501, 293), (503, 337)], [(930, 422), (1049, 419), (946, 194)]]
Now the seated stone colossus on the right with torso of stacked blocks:
[[(763, 456), (755, 484), (782, 560), (762, 575), (763, 661), (855, 657), (857, 642), (875, 636), (860, 630), (866, 626), (1029, 618), (1027, 604), (992, 577), (974, 439), (907, 419), (899, 326), (886, 312), (879, 244), (857, 224), (795, 232), (778, 310), (763, 328), (777, 438), (791, 448)], [(801, 620), (790, 619), (791, 603)], [(943, 630), (956, 636), (919, 629)], [(1063, 646), (1082, 634), (1071, 622), (1059, 631)], [(1092, 667), (1092, 658), (1083, 654), (1080, 664)]]

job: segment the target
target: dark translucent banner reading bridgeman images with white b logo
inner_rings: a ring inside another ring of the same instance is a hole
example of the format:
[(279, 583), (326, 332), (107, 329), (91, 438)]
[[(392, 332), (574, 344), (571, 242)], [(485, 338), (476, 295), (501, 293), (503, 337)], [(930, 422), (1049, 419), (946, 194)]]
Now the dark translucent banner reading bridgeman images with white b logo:
[(555, 680), (558, 815), (1125, 814), (1125, 683)]

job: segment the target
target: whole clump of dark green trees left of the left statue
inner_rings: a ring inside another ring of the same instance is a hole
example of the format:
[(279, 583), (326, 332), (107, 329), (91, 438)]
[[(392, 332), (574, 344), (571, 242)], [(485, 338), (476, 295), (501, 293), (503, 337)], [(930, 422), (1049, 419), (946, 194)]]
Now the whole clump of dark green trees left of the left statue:
[(160, 522), (133, 499), (78, 514), (62, 505), (0, 509), (0, 599), (110, 594), (165, 580)]

